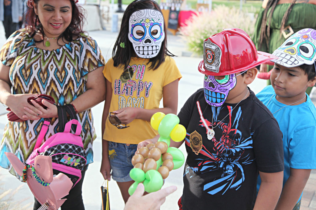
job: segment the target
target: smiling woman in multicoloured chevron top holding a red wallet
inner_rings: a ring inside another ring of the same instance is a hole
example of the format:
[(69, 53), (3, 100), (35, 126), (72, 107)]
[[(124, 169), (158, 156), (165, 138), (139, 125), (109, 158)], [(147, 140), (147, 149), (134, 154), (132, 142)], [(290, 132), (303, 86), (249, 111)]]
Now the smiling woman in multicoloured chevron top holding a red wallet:
[[(58, 132), (56, 105), (75, 107), (83, 128), (87, 164), (93, 162), (92, 142), (96, 134), (90, 108), (105, 99), (102, 76), (105, 61), (95, 40), (82, 33), (84, 17), (76, 2), (28, 0), (32, 8), (27, 14), (28, 26), (16, 31), (0, 51), (0, 101), (26, 120), (8, 122), (0, 146), (0, 166), (8, 168), (17, 178), (4, 152), (13, 152), (26, 162), (44, 118), (52, 117), (45, 139)], [(56, 105), (43, 100), (48, 107), (45, 110), (34, 101), (34, 106), (28, 104), (27, 98), (36, 94), (52, 96)], [(68, 206), (84, 209), (81, 195), (84, 173), (85, 170), (62, 209)]]

